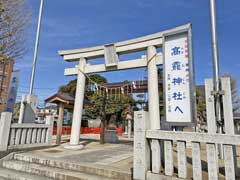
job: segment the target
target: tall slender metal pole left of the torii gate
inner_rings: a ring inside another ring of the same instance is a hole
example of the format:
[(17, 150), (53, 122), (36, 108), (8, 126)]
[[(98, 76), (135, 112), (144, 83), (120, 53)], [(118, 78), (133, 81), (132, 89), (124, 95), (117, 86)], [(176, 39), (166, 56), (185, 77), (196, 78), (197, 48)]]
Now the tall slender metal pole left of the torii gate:
[(29, 95), (32, 95), (32, 93), (33, 93), (33, 85), (34, 85), (35, 71), (36, 71), (35, 69), (36, 69), (38, 46), (39, 46), (39, 37), (40, 37), (40, 30), (41, 30), (41, 23), (42, 23), (43, 3), (44, 3), (44, 0), (41, 0), (40, 8), (39, 8), (39, 15), (38, 15), (37, 34), (36, 34), (35, 49), (34, 49), (34, 56), (33, 56), (33, 65), (32, 65), (32, 73), (31, 73), (31, 80), (30, 80), (30, 87), (29, 87)]

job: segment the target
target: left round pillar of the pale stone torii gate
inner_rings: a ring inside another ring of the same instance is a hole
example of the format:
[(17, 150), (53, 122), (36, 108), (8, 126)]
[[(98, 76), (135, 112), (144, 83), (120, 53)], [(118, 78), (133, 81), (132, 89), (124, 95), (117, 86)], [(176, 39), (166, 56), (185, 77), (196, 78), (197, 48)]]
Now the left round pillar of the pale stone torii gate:
[[(86, 59), (81, 58), (78, 66), (79, 70), (84, 72), (85, 65), (86, 65)], [(70, 139), (70, 145), (73, 145), (73, 146), (79, 145), (85, 81), (86, 81), (85, 75), (82, 72), (79, 72), (78, 78), (77, 78), (76, 96), (75, 96), (73, 121), (72, 121), (72, 132), (71, 132), (71, 139)]]

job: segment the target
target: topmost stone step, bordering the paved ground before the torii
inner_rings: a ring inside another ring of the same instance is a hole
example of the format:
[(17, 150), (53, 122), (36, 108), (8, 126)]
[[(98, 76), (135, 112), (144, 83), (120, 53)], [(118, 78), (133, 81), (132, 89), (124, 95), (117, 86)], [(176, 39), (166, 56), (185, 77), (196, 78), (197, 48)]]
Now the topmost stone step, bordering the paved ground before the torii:
[(43, 158), (38, 157), (34, 155), (24, 154), (24, 153), (18, 153), (14, 155), (15, 160), (19, 161), (25, 161), (35, 164), (40, 164), (44, 166), (49, 166), (53, 168), (60, 168), (60, 169), (66, 169), (71, 171), (77, 171), (77, 172), (83, 172), (86, 174), (93, 174), (93, 175), (99, 175), (104, 176), (108, 178), (119, 178), (121, 177), (121, 180), (130, 180), (131, 179), (131, 171), (122, 170), (119, 168), (104, 166), (104, 165), (93, 165), (93, 164), (81, 164), (81, 163), (72, 163), (66, 161), (59, 161), (55, 159), (49, 159), (49, 158)]

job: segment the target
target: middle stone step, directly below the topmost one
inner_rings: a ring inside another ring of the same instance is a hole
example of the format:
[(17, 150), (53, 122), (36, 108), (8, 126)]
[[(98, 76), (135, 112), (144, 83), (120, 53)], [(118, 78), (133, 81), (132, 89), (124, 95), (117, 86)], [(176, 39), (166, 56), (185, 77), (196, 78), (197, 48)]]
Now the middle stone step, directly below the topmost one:
[[(3, 167), (20, 172), (36, 174), (58, 180), (113, 180), (103, 176), (90, 175), (82, 172), (70, 171), (66, 169), (54, 168), (35, 163), (18, 160), (3, 161)], [(116, 179), (115, 179), (116, 180)]]

